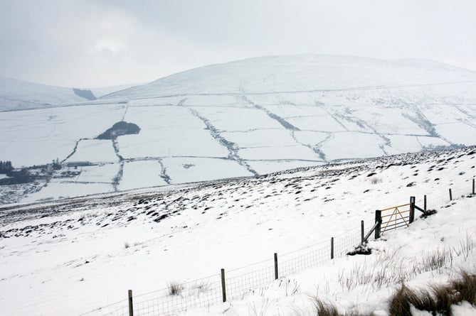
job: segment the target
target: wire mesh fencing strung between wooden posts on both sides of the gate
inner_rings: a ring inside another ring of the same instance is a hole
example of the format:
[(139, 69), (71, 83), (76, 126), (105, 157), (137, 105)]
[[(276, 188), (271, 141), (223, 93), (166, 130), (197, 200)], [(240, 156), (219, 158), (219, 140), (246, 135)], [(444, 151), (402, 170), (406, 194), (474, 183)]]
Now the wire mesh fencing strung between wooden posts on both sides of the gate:
[[(450, 189), (451, 196), (449, 192), (438, 195), (431, 193), (428, 197), (425, 195), (426, 208), (428, 210), (444, 209), (455, 203), (452, 200), (459, 199), (460, 197), (471, 197), (474, 195), (475, 181), (472, 179), (472, 181), (467, 180), (467, 183), (465, 182), (463, 185), (450, 185)], [(416, 204), (423, 207), (423, 197), (420, 197), (420, 199)], [(359, 223), (358, 228), (344, 231), (342, 234), (337, 235), (337, 238), (334, 237), (332, 239), (332, 255), (331, 243), (329, 241), (322, 241), (318, 244), (280, 255), (282, 261), (277, 263), (277, 266), (276, 262), (273, 262), (270, 257), (269, 261), (260, 261), (230, 270), (225, 278), (226, 298), (228, 300), (242, 299), (248, 293), (253, 293), (254, 290), (263, 285), (273, 282), (276, 275), (280, 277), (289, 276), (327, 263), (331, 256), (333, 258), (345, 256), (349, 250), (361, 244), (362, 233), (361, 223)], [(245, 268), (259, 265), (263, 267), (257, 268), (254, 271), (237, 274), (238, 271), (242, 271)], [(173, 292), (172, 286), (175, 292)], [(133, 302), (133, 315), (176, 315), (191, 307), (210, 307), (224, 301), (222, 290), (221, 275), (219, 273), (187, 283), (171, 284), (168, 288), (136, 295)], [(156, 297), (141, 300), (141, 298), (152, 294), (156, 295)], [(122, 306), (119, 307), (118, 305), (121, 303)], [(93, 312), (100, 312), (102, 315), (110, 316), (132, 316), (127, 300), (87, 312), (83, 315), (89, 315)]]

